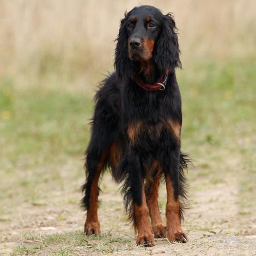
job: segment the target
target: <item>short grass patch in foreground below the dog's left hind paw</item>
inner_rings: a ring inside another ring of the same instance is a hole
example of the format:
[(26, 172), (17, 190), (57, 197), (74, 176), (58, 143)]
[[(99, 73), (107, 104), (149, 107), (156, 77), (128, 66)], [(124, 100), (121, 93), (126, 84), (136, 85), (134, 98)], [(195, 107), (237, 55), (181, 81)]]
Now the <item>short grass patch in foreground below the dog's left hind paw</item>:
[[(113, 236), (111, 230), (102, 236), (93, 235), (86, 239), (82, 231), (44, 236), (26, 234), (22, 245), (16, 247), (11, 255), (34, 254), (43, 249), (46, 251), (43, 255), (76, 255), (92, 250), (107, 254), (123, 251), (131, 241), (127, 236)], [(52, 248), (52, 245), (57, 247)]]

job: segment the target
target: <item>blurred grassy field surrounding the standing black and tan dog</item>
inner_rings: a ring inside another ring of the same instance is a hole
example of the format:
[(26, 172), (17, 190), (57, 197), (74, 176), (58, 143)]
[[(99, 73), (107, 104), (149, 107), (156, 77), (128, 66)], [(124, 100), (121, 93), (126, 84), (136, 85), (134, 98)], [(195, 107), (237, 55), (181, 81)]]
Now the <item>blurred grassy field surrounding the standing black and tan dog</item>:
[[(197, 167), (188, 173), (192, 186), (192, 210), (185, 222), (188, 237), (197, 241), (203, 235), (199, 232), (206, 231), (214, 231), (211, 235), (220, 235), (223, 241), (253, 236), (256, 2), (139, 3), (155, 5), (163, 13), (172, 11), (179, 28), (182, 149), (192, 153)], [(113, 71), (114, 39), (124, 11), (139, 3), (0, 0), (0, 254), (15, 247), (14, 255), (75, 255), (81, 245), (82, 252), (93, 255), (117, 251), (109, 246), (108, 235), (103, 244), (84, 247), (81, 233), (72, 232), (77, 225), (81, 232), (83, 225), (79, 187), (94, 91)], [(102, 205), (105, 213), (100, 211), (102, 228), (113, 229), (117, 237), (126, 223), (121, 199), (113, 192), (118, 187), (107, 178), (102, 188), (107, 197), (102, 196), (107, 202)], [(161, 209), (164, 203), (163, 192)], [(117, 227), (113, 223), (119, 217)], [(56, 232), (70, 231), (76, 237), (75, 249), (54, 235), (37, 242), (40, 228), (47, 225)], [(127, 234), (133, 236), (131, 230)], [(127, 239), (115, 242), (132, 244)], [(196, 247), (201, 244), (198, 240)], [(208, 248), (208, 240), (203, 245)], [(194, 248), (174, 246), (181, 254), (184, 248)]]

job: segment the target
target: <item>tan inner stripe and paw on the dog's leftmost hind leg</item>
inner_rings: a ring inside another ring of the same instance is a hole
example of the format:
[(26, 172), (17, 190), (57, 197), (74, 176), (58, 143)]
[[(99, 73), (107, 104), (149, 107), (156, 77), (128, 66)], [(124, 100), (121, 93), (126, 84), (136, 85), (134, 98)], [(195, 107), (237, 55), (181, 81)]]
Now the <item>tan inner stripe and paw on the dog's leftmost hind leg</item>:
[(100, 178), (100, 173), (103, 168), (106, 159), (106, 154), (103, 154), (101, 161), (97, 165), (96, 173), (94, 174), (92, 187), (90, 189), (89, 198), (89, 209), (87, 211), (86, 223), (84, 224), (84, 232), (86, 235), (99, 234), (100, 235), (100, 222), (97, 215), (98, 197), (99, 197), (99, 187), (98, 182)]

